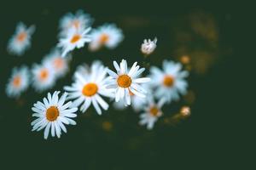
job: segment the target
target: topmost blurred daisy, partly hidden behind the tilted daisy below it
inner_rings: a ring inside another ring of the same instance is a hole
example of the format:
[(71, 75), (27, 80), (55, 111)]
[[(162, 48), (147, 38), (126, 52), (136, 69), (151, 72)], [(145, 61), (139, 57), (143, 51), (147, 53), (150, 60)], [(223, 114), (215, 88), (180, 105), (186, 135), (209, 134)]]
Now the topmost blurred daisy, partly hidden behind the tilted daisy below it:
[(60, 21), (61, 35), (65, 34), (72, 27), (76, 30), (83, 30), (90, 27), (92, 22), (90, 14), (84, 14), (83, 10), (78, 10), (76, 14), (67, 13)]

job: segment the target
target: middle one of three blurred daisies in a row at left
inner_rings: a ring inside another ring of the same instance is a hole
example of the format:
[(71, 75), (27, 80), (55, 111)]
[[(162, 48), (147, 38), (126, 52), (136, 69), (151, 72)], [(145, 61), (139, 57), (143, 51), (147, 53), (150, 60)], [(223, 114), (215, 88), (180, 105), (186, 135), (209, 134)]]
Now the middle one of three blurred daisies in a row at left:
[(43, 65), (33, 65), (32, 67), (32, 86), (38, 92), (52, 88), (55, 85), (55, 71), (49, 63)]

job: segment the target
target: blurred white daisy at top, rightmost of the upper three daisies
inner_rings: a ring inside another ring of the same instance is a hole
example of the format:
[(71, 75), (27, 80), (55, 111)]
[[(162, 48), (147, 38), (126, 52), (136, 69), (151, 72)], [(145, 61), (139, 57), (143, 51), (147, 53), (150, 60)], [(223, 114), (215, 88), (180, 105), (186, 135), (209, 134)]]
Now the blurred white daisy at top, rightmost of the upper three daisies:
[(124, 35), (114, 24), (105, 24), (91, 31), (91, 38), (89, 49), (95, 51), (103, 46), (110, 49), (116, 48), (124, 39)]

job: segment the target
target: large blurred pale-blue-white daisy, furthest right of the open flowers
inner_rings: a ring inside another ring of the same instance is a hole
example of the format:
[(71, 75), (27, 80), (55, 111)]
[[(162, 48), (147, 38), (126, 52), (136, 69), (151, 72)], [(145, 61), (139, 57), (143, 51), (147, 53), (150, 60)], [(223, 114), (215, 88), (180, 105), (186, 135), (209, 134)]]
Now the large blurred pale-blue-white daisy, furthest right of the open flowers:
[(155, 97), (157, 99), (166, 98), (168, 102), (179, 99), (179, 94), (186, 94), (188, 82), (185, 80), (189, 76), (188, 71), (182, 71), (182, 65), (173, 61), (163, 62), (163, 71), (153, 66), (150, 69), (152, 86), (156, 88)]

